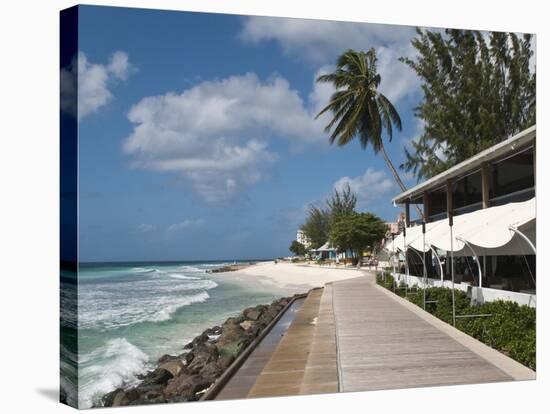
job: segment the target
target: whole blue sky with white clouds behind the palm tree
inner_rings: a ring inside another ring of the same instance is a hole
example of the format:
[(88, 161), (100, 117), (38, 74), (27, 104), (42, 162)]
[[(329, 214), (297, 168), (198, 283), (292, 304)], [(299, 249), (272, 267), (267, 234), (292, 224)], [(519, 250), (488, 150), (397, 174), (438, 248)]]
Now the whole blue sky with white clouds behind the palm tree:
[[(380, 91), (422, 132), (414, 27), (80, 6), (80, 261), (288, 255), (307, 209), (346, 183), (358, 210), (394, 221), (380, 156), (330, 145), (315, 79), (348, 48), (377, 51)], [(62, 73), (63, 76), (63, 73)], [(402, 172), (405, 184), (416, 180)]]

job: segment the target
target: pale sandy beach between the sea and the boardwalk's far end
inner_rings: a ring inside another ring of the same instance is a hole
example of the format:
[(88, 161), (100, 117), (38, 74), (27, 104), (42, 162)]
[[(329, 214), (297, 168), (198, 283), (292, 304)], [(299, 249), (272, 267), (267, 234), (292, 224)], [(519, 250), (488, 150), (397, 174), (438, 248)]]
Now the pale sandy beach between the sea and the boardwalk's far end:
[(278, 262), (275, 264), (274, 262), (262, 262), (245, 269), (220, 275), (234, 279), (250, 279), (251, 281), (276, 285), (299, 293), (314, 287), (322, 287), (328, 282), (351, 279), (365, 274), (365, 271), (354, 268), (331, 268), (303, 263)]

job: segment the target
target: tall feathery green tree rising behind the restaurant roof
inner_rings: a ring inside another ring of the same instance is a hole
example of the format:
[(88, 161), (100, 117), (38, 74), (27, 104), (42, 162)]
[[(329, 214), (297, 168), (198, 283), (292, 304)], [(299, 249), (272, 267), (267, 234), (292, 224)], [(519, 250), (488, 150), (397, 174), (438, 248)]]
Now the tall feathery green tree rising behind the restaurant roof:
[(417, 56), (400, 61), (422, 80), (424, 132), (402, 169), (432, 177), (535, 124), (531, 35), (417, 29), (412, 45)]

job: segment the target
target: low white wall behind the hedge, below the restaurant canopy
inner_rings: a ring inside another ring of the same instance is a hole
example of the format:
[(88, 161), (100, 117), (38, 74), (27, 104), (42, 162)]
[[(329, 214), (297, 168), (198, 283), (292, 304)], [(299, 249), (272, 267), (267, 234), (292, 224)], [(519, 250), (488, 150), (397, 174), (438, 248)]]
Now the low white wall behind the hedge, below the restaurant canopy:
[[(394, 276), (395, 280), (398, 283), (406, 283), (407, 286), (423, 286), (423, 280), (418, 276), (408, 276), (402, 273), (396, 273)], [(446, 287), (451, 288), (452, 283), (450, 280), (441, 279), (427, 279), (427, 285), (429, 287)], [(455, 289), (462, 290), (468, 294), (472, 299), (472, 303), (485, 303), (492, 302), (495, 300), (509, 300), (516, 302), (520, 305), (527, 305), (532, 308), (536, 307), (537, 304), (537, 295), (530, 295), (528, 293), (520, 292), (511, 292), (509, 290), (500, 290), (500, 289), (491, 289), (491, 288), (480, 288), (477, 286), (471, 286), (468, 283), (455, 283)]]

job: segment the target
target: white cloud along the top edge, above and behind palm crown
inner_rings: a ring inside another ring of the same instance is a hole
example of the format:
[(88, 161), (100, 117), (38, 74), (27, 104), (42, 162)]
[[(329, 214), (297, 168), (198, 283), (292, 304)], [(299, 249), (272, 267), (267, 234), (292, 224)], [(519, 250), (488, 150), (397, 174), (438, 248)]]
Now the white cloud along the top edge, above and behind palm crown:
[(392, 101), (419, 92), (415, 73), (398, 61), (416, 54), (410, 43), (415, 31), (410, 26), (254, 16), (244, 21), (239, 36), (251, 45), (277, 42), (287, 55), (317, 65), (333, 64), (349, 48), (374, 47), (382, 75), (380, 90)]

